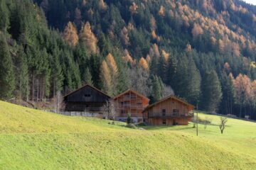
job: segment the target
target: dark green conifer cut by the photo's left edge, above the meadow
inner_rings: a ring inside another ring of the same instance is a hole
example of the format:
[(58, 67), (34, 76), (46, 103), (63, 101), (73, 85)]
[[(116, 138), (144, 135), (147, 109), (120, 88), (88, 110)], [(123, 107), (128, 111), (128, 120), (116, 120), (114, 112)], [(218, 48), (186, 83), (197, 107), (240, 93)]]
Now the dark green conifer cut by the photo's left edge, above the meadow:
[(9, 99), (15, 89), (13, 62), (6, 43), (6, 38), (0, 33), (0, 98)]

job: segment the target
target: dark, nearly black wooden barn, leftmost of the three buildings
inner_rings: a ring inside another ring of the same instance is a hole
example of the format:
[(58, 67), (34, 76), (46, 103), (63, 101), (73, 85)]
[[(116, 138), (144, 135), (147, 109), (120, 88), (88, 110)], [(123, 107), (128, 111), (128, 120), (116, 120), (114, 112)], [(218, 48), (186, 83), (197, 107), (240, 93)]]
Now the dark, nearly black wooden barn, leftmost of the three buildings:
[(110, 96), (99, 89), (86, 84), (70, 94), (64, 96), (65, 112), (97, 113), (102, 117), (102, 106)]

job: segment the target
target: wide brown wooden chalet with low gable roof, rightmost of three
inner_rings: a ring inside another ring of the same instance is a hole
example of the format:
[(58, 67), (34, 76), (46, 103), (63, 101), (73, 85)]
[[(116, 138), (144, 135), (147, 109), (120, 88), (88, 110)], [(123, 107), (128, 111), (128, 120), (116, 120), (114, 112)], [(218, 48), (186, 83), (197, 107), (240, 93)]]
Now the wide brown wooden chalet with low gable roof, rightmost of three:
[(163, 98), (144, 110), (149, 125), (188, 125), (193, 117), (194, 106), (175, 96)]

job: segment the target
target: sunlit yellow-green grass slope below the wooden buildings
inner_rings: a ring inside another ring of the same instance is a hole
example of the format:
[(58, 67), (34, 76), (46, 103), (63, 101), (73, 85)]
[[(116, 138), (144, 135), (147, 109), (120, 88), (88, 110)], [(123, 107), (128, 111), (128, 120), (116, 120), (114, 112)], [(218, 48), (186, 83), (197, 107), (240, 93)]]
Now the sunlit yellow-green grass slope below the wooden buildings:
[[(218, 116), (207, 116), (218, 123)], [(0, 101), (0, 169), (255, 169), (256, 123), (132, 130)]]

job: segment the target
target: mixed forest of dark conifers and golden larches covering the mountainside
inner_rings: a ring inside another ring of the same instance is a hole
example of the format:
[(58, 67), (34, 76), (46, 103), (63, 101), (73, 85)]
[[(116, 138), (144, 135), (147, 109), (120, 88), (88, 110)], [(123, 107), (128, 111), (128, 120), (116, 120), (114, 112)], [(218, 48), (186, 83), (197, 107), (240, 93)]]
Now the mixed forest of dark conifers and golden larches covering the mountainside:
[(256, 120), (255, 38), (239, 0), (0, 0), (0, 98), (91, 84)]

